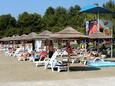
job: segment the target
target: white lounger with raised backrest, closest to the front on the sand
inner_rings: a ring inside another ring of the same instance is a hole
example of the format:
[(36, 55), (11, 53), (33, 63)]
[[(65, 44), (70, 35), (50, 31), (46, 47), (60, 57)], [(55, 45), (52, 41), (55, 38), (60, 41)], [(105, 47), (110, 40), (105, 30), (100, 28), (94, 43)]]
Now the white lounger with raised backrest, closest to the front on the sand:
[(62, 61), (57, 61), (56, 57), (59, 55), (58, 51), (55, 51), (51, 59), (45, 63), (45, 69), (51, 68), (54, 71), (54, 68), (57, 68), (57, 71), (67, 70), (67, 64), (64, 64)]

